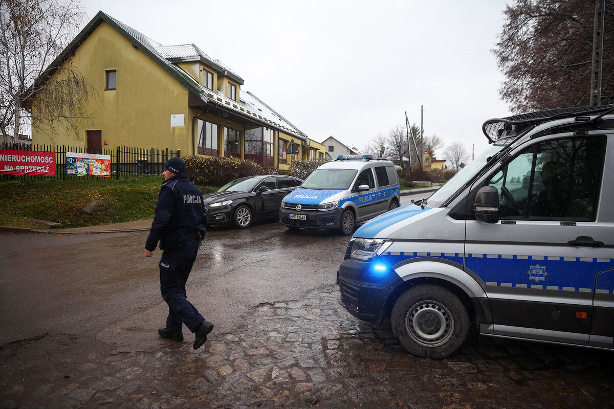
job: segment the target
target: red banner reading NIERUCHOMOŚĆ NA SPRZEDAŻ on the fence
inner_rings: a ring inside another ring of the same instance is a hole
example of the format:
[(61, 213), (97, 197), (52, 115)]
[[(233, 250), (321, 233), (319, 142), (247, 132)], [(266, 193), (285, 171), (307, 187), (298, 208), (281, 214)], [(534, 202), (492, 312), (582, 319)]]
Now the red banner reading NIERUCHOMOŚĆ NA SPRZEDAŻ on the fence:
[(0, 149), (0, 175), (55, 176), (55, 152)]

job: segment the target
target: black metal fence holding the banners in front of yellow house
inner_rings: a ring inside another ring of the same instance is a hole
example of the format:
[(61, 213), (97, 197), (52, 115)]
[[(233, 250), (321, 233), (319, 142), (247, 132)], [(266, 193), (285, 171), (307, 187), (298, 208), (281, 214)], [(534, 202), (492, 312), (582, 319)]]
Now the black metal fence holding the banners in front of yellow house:
[(106, 179), (106, 177), (79, 177), (66, 174), (66, 152), (95, 153), (96, 155), (111, 156), (111, 177), (134, 177), (137, 175), (160, 175), (163, 166), (169, 158), (179, 155), (179, 150), (117, 147), (115, 149), (98, 149), (95, 152), (87, 152), (84, 147), (67, 147), (66, 145), (29, 145), (28, 143), (0, 143), (0, 149), (25, 150), (34, 152), (55, 153), (55, 176), (41, 175), (2, 175), (0, 179), (37, 180), (49, 178), (78, 177), (80, 179)]

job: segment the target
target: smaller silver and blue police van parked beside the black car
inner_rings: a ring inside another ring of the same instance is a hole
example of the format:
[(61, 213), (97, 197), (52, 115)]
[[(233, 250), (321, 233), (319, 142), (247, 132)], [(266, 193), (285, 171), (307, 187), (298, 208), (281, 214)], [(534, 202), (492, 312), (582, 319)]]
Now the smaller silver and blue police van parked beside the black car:
[(339, 229), (349, 235), (357, 223), (397, 208), (399, 194), (391, 161), (373, 155), (339, 155), (284, 198), (279, 221), (289, 229)]

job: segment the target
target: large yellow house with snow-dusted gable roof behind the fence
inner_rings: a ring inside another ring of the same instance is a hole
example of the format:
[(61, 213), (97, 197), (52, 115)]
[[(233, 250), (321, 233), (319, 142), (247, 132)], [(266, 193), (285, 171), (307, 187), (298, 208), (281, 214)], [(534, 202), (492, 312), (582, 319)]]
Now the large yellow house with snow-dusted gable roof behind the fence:
[[(70, 61), (69, 61), (70, 59)], [(34, 143), (82, 146), (90, 153), (120, 145), (179, 149), (181, 156), (236, 156), (288, 170), (286, 151), (307, 136), (241, 86), (243, 78), (194, 44), (163, 46), (103, 12), (77, 34), (50, 67), (71, 64), (97, 91), (90, 115), (68, 134), (33, 129)], [(45, 81), (56, 75), (48, 69)], [(40, 115), (32, 101), (34, 118)]]

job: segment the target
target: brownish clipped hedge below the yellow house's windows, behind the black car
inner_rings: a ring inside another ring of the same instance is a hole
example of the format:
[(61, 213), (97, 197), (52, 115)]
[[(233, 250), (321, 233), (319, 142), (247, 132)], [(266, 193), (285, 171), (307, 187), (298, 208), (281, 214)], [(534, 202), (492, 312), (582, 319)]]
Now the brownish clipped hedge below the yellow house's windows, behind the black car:
[(264, 175), (266, 170), (254, 161), (219, 156), (186, 156), (185, 174), (199, 186), (223, 186), (240, 177)]

